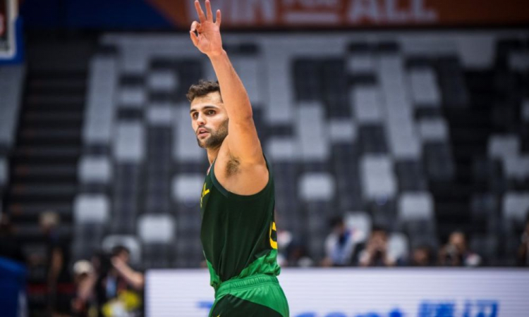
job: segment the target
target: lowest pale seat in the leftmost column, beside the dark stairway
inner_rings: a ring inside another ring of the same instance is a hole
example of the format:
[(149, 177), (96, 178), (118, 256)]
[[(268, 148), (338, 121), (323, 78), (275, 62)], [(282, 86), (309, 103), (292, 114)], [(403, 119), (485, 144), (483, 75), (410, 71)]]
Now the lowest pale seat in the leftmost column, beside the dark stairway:
[(73, 218), (75, 224), (107, 223), (110, 216), (110, 202), (103, 194), (80, 194), (75, 197)]

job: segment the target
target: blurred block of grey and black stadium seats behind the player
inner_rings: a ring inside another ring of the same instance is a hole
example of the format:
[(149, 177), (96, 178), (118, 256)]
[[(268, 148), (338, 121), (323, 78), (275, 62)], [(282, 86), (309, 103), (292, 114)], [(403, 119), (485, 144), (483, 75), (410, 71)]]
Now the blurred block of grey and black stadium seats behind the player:
[[(509, 197), (511, 190), (527, 192), (527, 131), (518, 124), (508, 133), (479, 133), (479, 125), (506, 125), (490, 118), (493, 108), (482, 114), (479, 89), (488, 84), (475, 74), (525, 71), (527, 54), (500, 36), (465, 39), (226, 37), (274, 170), (279, 225), (308, 237), (313, 256), (321, 255), (333, 215), (348, 215), (348, 225), (365, 235), (372, 223), (403, 230), (392, 235), (396, 254), (425, 242), (436, 247), (458, 227), (475, 232), (476, 248), (497, 250), (511, 215), (525, 215), (523, 203)], [(214, 79), (212, 68), (176, 35), (105, 35), (100, 42), (112, 49), (92, 60), (84, 140), (112, 151), (86, 156), (80, 182), (108, 184), (111, 177), (107, 234), (138, 235), (144, 264), (162, 256), (145, 245), (164, 249), (171, 242), (176, 248), (163, 266), (191, 266), (200, 261), (193, 247), (200, 247), (197, 201), (207, 160), (190, 128), (185, 93), (199, 78)], [(518, 104), (525, 122), (526, 99)], [(491, 220), (500, 210), (502, 226)], [(157, 217), (174, 223), (167, 230), (175, 232), (154, 242), (145, 228), (162, 225)], [(484, 255), (494, 260), (498, 252)]]

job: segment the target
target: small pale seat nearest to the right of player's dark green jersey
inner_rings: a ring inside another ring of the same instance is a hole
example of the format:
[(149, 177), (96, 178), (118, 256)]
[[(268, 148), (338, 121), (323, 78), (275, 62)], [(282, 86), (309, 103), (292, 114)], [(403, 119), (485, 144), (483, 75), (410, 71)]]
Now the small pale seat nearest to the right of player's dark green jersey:
[(299, 180), (300, 198), (305, 201), (331, 200), (335, 187), (334, 177), (329, 173), (305, 173)]

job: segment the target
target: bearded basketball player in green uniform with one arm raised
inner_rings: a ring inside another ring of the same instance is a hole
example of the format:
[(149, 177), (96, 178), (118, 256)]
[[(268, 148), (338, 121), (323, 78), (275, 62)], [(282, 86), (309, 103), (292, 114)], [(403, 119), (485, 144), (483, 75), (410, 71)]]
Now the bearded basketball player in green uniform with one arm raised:
[(200, 239), (215, 290), (209, 316), (288, 316), (276, 275), (274, 179), (252, 117), (248, 94), (222, 48), (221, 13), (215, 22), (209, 0), (199, 1), (193, 44), (209, 57), (219, 82), (190, 87), (190, 116), (207, 171), (200, 213)]

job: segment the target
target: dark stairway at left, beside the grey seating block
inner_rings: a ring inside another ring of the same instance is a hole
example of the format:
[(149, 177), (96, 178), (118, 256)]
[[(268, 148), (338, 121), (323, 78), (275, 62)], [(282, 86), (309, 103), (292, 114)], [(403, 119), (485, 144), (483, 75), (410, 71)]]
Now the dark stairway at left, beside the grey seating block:
[[(71, 263), (67, 259), (73, 199), (78, 192), (77, 165), (82, 151), (87, 65), (93, 49), (90, 42), (61, 45), (59, 41), (36, 42), (29, 47), (6, 207), (18, 228), (23, 254), (27, 259), (40, 260), (28, 266), (30, 316), (47, 316), (49, 254), (39, 228), (39, 215), (54, 211), (60, 216), (59, 239), (65, 246), (63, 265), (69, 276)], [(71, 290), (71, 280), (61, 280), (57, 285), (59, 293), (67, 294)]]

